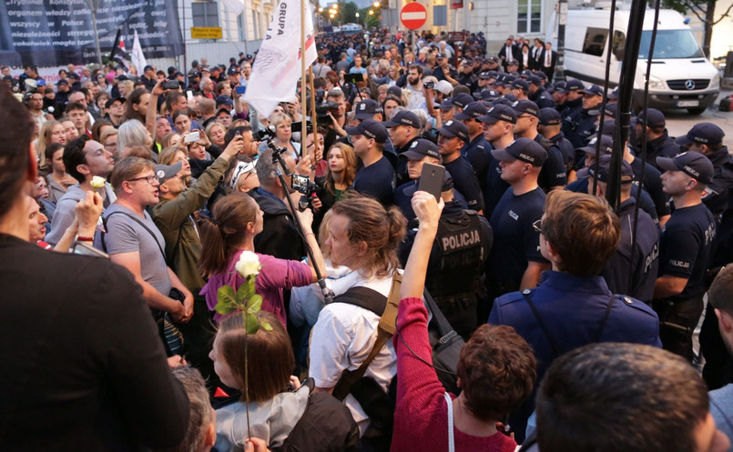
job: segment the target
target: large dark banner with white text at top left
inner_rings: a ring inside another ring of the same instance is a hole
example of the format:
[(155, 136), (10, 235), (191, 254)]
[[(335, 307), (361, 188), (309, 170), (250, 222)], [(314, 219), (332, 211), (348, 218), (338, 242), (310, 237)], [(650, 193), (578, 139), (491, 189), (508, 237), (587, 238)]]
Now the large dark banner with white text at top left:
[(103, 54), (111, 51), (119, 27), (128, 52), (137, 29), (147, 58), (183, 54), (178, 0), (4, 0), (0, 2), (0, 64), (96, 63), (90, 1), (98, 4), (97, 34)]

